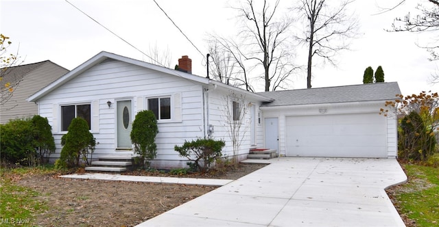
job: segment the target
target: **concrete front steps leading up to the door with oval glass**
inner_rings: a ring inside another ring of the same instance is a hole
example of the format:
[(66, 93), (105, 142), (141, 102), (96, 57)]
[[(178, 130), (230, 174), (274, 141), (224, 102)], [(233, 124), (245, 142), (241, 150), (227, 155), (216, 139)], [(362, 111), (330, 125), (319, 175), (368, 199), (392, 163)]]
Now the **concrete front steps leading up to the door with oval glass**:
[(98, 161), (92, 161), (86, 172), (125, 172), (134, 168), (136, 155), (101, 155)]

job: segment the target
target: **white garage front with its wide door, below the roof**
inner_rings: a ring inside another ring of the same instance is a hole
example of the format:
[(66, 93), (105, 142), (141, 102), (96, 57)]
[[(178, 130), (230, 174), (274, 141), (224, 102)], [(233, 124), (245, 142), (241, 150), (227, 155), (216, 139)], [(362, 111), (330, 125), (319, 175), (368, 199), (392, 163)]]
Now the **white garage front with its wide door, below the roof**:
[(279, 119), (280, 155), (396, 157), (397, 122), (377, 114), (382, 106), (383, 102), (364, 102), (262, 110), (264, 118)]

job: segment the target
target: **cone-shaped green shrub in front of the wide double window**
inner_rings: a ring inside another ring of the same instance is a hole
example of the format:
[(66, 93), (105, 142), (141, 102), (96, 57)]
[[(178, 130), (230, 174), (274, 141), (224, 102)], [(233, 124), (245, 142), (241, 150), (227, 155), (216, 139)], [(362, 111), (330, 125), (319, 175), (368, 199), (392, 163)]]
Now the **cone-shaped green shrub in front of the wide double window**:
[(88, 165), (88, 154), (95, 150), (96, 139), (88, 131), (88, 124), (82, 118), (73, 118), (67, 133), (61, 137), (61, 155), (57, 167), (76, 167), (80, 158)]

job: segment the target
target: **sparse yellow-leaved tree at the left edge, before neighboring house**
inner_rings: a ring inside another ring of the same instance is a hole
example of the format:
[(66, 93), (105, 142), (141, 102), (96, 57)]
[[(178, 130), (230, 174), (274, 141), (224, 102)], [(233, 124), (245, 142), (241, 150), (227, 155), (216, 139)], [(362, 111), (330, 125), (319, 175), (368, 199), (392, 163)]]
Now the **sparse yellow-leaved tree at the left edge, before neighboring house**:
[(16, 87), (23, 81), (21, 73), (14, 73), (13, 66), (18, 65), (20, 62), (19, 57), (17, 57), (18, 54), (7, 53), (10, 44), (12, 42), (9, 37), (0, 34), (0, 107), (8, 103)]

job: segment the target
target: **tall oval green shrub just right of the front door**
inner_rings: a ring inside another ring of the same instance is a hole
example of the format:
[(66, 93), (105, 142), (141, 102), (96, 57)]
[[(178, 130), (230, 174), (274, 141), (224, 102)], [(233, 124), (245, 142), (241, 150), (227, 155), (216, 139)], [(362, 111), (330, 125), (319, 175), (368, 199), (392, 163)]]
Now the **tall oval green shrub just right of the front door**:
[(139, 162), (143, 168), (150, 166), (150, 161), (157, 155), (156, 135), (158, 133), (157, 119), (150, 110), (139, 111), (130, 133), (134, 151), (140, 155)]

